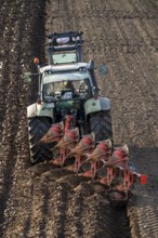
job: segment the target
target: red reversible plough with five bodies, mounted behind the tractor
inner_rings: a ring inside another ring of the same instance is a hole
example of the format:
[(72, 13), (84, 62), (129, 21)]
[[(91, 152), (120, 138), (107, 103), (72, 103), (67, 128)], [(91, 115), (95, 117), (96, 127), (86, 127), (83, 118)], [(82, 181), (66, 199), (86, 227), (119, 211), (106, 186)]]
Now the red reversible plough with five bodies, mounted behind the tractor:
[[(57, 143), (52, 148), (53, 164), (63, 167), (69, 158), (75, 158), (74, 163), (65, 168), (104, 185), (105, 190), (109, 193), (110, 201), (127, 201), (134, 184), (147, 183), (145, 174), (134, 172), (129, 166), (127, 145), (115, 148), (110, 138), (95, 145), (94, 133), (83, 135), (80, 140), (79, 129), (69, 129), (70, 120), (71, 118), (67, 117), (65, 128), (62, 122), (52, 125), (40, 140), (40, 143)], [(84, 163), (89, 163), (90, 169), (80, 173)], [(100, 175), (100, 171), (104, 175)]]

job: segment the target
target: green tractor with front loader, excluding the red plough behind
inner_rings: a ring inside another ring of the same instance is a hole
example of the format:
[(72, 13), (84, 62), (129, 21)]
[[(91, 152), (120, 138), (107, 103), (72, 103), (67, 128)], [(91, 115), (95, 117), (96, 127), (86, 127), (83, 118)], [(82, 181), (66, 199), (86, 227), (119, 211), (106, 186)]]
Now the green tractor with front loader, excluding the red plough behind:
[[(48, 36), (49, 65), (38, 68), (37, 102), (27, 107), (30, 160), (32, 163), (51, 159), (50, 145), (38, 143), (53, 123), (71, 116), (71, 127), (79, 128), (80, 137), (94, 132), (95, 140), (113, 137), (110, 101), (100, 95), (93, 61), (83, 63), (82, 31)], [(106, 66), (101, 67), (102, 74)], [(30, 82), (30, 72), (25, 81)]]

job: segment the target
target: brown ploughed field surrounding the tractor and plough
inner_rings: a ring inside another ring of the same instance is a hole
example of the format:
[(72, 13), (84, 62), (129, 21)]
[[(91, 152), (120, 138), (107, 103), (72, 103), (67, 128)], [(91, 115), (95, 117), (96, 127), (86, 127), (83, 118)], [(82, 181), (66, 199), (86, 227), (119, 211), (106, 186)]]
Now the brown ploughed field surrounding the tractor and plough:
[[(158, 237), (157, 1), (1, 0), (0, 16), (0, 237)], [(94, 60), (111, 98), (115, 143), (128, 144), (148, 175), (127, 210), (113, 210), (88, 178), (29, 162), (26, 107), (37, 82), (23, 76), (36, 71), (35, 56), (47, 63), (45, 35), (67, 30), (84, 32), (84, 60)]]

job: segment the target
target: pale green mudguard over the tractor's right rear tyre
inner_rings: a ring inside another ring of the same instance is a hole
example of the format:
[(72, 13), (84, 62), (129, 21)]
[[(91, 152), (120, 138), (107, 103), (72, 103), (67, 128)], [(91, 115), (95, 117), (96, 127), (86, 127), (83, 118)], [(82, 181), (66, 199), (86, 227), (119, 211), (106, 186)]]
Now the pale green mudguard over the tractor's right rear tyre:
[(110, 101), (107, 97), (90, 98), (84, 103), (85, 116), (100, 110), (110, 110)]

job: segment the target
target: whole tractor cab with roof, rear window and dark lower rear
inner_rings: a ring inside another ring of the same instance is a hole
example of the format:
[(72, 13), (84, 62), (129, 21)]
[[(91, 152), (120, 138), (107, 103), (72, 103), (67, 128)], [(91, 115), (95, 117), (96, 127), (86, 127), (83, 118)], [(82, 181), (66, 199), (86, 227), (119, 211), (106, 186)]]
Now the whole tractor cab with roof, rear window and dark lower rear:
[[(82, 67), (81, 67), (82, 66)], [(83, 67), (84, 66), (84, 67)], [(56, 70), (57, 67), (57, 70)], [(44, 68), (41, 80), (41, 101), (49, 107), (54, 105), (54, 110), (58, 114), (70, 110), (83, 111), (85, 101), (92, 97), (93, 82), (91, 74), (85, 63), (78, 63), (76, 66), (52, 66), (47, 72)]]

